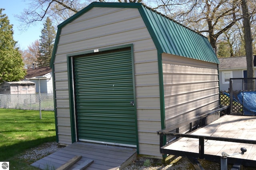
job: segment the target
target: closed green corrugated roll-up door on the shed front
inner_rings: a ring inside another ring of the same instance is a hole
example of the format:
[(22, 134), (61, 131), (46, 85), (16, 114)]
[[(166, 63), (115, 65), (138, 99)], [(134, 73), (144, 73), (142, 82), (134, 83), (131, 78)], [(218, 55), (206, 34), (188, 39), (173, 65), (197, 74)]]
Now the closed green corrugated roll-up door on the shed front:
[(131, 50), (74, 57), (79, 141), (136, 145)]

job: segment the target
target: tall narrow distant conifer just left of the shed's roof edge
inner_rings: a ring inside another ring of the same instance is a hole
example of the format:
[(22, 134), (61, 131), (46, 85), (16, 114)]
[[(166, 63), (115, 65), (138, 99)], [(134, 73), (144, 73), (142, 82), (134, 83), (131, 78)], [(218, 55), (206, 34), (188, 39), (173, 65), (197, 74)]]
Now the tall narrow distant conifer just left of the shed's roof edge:
[(38, 65), (41, 66), (49, 66), (51, 57), (52, 57), (52, 51), (54, 47), (54, 40), (56, 36), (56, 31), (54, 29), (54, 26), (52, 26), (52, 21), (48, 17), (46, 19), (46, 22), (44, 23), (44, 28), (41, 31), (40, 36), (40, 44), (39, 44), (39, 57)]

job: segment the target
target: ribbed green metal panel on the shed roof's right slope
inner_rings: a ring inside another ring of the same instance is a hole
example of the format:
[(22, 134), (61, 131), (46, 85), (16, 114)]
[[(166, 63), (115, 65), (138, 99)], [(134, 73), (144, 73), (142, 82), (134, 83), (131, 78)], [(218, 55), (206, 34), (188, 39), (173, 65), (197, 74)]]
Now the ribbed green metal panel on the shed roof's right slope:
[(144, 6), (140, 12), (162, 53), (219, 63), (206, 37)]

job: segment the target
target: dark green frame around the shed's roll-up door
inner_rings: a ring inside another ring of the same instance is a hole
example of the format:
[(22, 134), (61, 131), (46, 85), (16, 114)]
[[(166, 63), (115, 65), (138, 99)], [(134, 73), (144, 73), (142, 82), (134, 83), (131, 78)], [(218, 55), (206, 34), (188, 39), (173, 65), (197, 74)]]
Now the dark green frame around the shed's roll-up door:
[[(96, 54), (100, 52), (108, 52), (112, 50), (118, 50), (129, 47), (131, 50), (131, 58), (132, 58), (132, 79), (133, 79), (133, 92), (134, 92), (134, 116), (135, 116), (135, 127), (136, 127), (136, 147), (138, 151), (138, 125), (137, 125), (137, 111), (136, 111), (136, 91), (135, 91), (135, 78), (134, 78), (134, 57), (133, 57), (133, 45), (122, 45), (117, 47), (110, 47), (104, 49), (94, 49), (90, 51), (84, 51), (81, 53), (72, 53), (67, 55), (68, 61), (68, 82), (69, 82), (69, 101), (70, 101), (70, 123), (71, 123), (71, 136), (72, 136), (72, 143), (78, 141), (78, 130), (77, 130), (77, 120), (76, 120), (76, 95), (75, 95), (75, 86), (74, 86), (74, 57), (78, 57), (79, 55), (89, 55), (89, 54)], [(125, 146), (125, 145), (124, 145)]]

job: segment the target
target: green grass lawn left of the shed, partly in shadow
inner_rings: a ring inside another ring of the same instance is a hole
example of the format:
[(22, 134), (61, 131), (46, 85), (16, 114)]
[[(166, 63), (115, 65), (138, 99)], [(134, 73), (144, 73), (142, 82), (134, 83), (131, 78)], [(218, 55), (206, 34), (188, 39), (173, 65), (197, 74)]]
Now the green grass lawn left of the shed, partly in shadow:
[(13, 157), (32, 147), (46, 142), (56, 141), (55, 119), (53, 111), (0, 109), (0, 161), (9, 161)]

